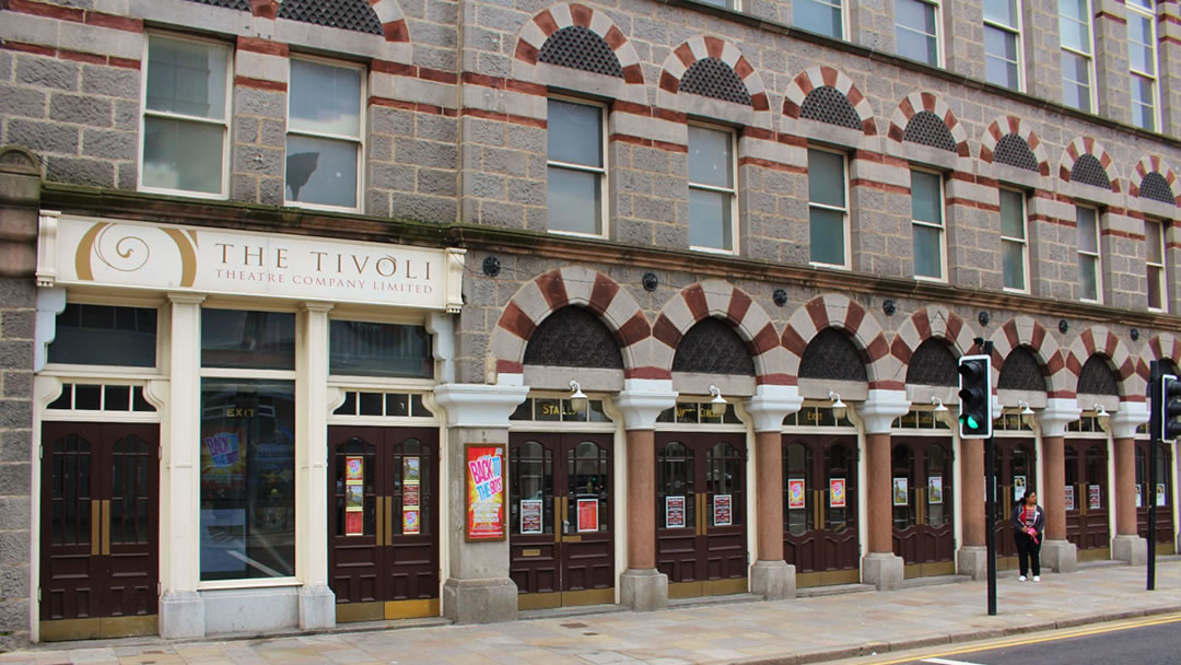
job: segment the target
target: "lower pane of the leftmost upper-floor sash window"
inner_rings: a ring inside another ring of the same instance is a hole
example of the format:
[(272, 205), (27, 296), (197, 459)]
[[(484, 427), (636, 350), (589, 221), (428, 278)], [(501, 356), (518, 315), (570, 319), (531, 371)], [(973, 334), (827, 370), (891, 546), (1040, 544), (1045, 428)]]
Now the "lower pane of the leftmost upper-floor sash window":
[(144, 185), (220, 194), (224, 137), (222, 125), (144, 118)]

